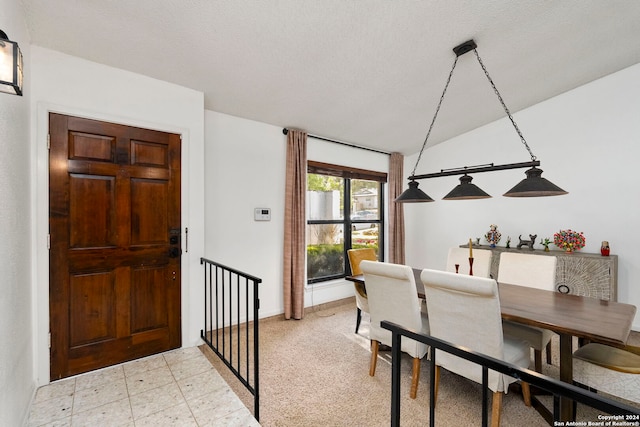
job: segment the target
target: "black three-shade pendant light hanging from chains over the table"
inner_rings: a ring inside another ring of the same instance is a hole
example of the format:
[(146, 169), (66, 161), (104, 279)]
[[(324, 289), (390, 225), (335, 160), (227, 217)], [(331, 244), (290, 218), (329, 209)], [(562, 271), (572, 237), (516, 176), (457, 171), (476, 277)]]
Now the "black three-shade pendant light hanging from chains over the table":
[[(489, 72), (484, 66), (482, 59), (480, 59), (480, 55), (478, 55), (478, 51), (476, 50), (478, 46), (476, 42), (473, 40), (466, 41), (461, 45), (458, 45), (453, 48), (453, 52), (456, 54), (456, 58), (453, 61), (453, 66), (451, 67), (451, 71), (449, 72), (449, 77), (447, 78), (447, 82), (444, 86), (444, 90), (442, 91), (442, 95), (440, 96), (440, 101), (438, 102), (438, 106), (436, 108), (436, 112), (431, 120), (431, 125), (429, 126), (429, 130), (427, 131), (427, 136), (422, 143), (422, 148), (420, 149), (420, 153), (418, 154), (418, 159), (416, 161), (415, 166), (413, 167), (413, 171), (411, 172), (411, 176), (409, 176), (409, 188), (405, 190), (400, 196), (398, 196), (395, 201), (398, 203), (419, 203), (419, 202), (433, 202), (433, 199), (429, 197), (424, 191), (418, 188), (417, 180), (427, 179), (427, 178), (439, 178), (444, 176), (452, 176), (452, 175), (462, 175), (460, 177), (460, 184), (456, 186), (449, 194), (447, 194), (443, 200), (470, 200), (470, 199), (486, 199), (491, 197), (489, 194), (482, 191), (475, 184), (471, 183), (470, 173), (480, 173), (480, 172), (493, 172), (499, 170), (506, 169), (518, 169), (518, 168), (530, 168), (526, 171), (526, 178), (520, 181), (516, 186), (514, 186), (511, 190), (504, 193), (504, 196), (507, 197), (542, 197), (542, 196), (559, 196), (562, 194), (567, 194), (562, 188), (557, 185), (549, 182), (545, 178), (542, 178), (542, 170), (538, 169), (537, 166), (540, 166), (540, 161), (537, 160), (536, 156), (531, 152), (531, 148), (527, 141), (522, 136), (522, 132), (518, 128), (511, 112), (507, 108), (507, 105), (504, 103), (500, 92), (496, 88), (496, 85), (493, 83), (493, 80), (489, 76)], [(416, 168), (420, 163), (420, 159), (422, 158), (422, 153), (427, 146), (427, 141), (429, 140), (429, 135), (431, 134), (431, 130), (433, 129), (433, 124), (438, 117), (438, 112), (440, 111), (440, 107), (442, 106), (442, 101), (444, 99), (445, 94), (447, 93), (447, 88), (449, 87), (449, 83), (451, 82), (451, 76), (453, 75), (453, 71), (456, 68), (456, 64), (458, 63), (458, 58), (461, 55), (464, 55), (467, 52), (473, 51), (478, 59), (478, 63), (482, 67), (487, 80), (493, 87), (493, 91), (498, 96), (498, 100), (500, 104), (502, 104), (502, 108), (504, 108), (505, 113), (509, 117), (511, 124), (514, 129), (518, 133), (520, 137), (520, 141), (525, 146), (529, 155), (531, 156), (530, 162), (522, 162), (522, 163), (509, 163), (504, 165), (494, 165), (493, 163), (487, 165), (479, 165), (479, 166), (464, 166), (461, 168), (455, 169), (442, 169), (440, 172), (416, 175)]]

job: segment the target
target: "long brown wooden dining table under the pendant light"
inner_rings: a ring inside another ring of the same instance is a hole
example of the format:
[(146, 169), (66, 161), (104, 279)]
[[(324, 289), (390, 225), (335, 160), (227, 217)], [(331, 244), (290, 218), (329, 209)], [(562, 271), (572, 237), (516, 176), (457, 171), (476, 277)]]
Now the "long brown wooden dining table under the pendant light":
[[(418, 295), (422, 270), (413, 269)], [(364, 275), (347, 276), (352, 282), (365, 283)], [(366, 285), (365, 285), (366, 286)], [(560, 337), (560, 380), (573, 382), (573, 337), (623, 348), (631, 333), (636, 307), (615, 301), (580, 295), (498, 283), (502, 318), (529, 326), (549, 329)], [(539, 401), (536, 409), (550, 424), (551, 413)], [(573, 401), (560, 398), (560, 421), (573, 420)]]

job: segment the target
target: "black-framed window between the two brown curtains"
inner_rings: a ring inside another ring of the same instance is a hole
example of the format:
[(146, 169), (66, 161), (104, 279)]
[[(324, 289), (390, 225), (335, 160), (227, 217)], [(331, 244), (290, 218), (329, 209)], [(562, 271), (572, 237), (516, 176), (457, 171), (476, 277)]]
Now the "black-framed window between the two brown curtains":
[(351, 248), (374, 248), (382, 260), (387, 174), (318, 162), (307, 171), (308, 282), (349, 274)]

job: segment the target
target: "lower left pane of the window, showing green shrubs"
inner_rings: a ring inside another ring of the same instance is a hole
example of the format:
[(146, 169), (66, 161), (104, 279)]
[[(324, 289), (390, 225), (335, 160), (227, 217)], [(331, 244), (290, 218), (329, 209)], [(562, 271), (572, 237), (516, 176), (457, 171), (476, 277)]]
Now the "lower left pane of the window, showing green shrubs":
[(342, 224), (307, 225), (307, 279), (344, 274)]

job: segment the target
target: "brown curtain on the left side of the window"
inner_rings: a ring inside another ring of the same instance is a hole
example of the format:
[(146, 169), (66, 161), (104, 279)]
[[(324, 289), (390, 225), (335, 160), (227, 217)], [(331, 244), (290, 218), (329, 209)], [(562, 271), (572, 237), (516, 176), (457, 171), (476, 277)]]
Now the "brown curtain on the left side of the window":
[(284, 318), (304, 316), (305, 205), (307, 194), (307, 133), (287, 133), (287, 176), (284, 209)]

